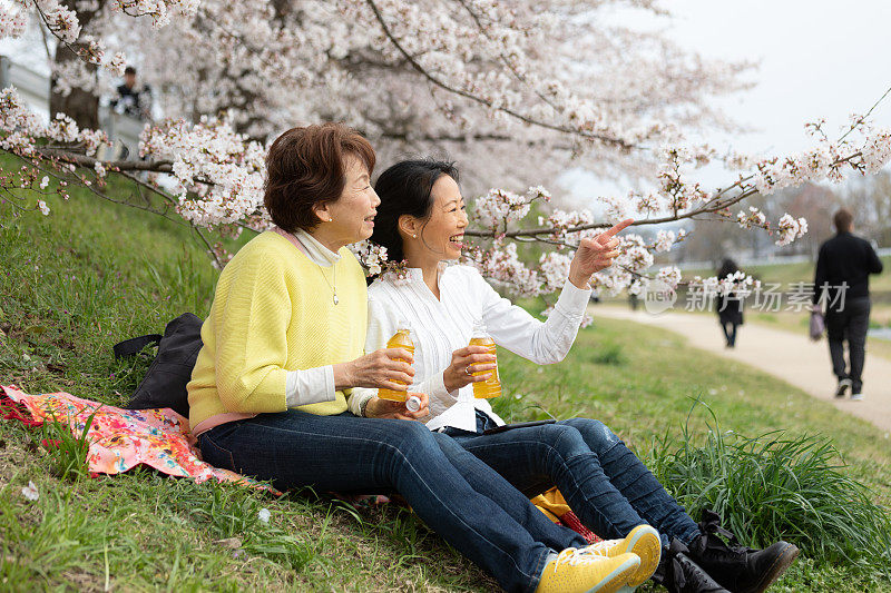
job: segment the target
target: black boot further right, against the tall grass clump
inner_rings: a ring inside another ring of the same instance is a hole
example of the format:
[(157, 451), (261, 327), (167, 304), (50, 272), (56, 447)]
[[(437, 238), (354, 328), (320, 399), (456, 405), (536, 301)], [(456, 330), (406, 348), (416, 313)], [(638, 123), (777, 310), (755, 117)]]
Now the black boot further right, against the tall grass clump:
[(776, 542), (764, 550), (740, 545), (712, 511), (703, 511), (699, 531), (702, 535), (689, 543), (689, 557), (733, 593), (761, 593), (799, 555), (799, 548), (787, 542)]

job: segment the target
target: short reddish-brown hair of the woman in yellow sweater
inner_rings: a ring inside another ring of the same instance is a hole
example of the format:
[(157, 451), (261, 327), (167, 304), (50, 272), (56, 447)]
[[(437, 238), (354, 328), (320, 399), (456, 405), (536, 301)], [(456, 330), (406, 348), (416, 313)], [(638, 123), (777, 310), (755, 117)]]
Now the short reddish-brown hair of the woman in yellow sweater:
[(343, 123), (291, 128), (270, 147), (263, 204), (283, 230), (311, 230), (322, 221), (313, 206), (337, 200), (346, 184), (344, 158), (374, 169), (374, 149)]

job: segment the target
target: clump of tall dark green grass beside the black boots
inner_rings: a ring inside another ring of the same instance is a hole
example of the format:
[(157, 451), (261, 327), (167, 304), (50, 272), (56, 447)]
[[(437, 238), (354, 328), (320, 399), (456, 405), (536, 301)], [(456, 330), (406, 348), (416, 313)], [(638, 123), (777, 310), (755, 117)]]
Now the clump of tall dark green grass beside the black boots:
[(747, 545), (785, 537), (812, 557), (891, 577), (891, 515), (843, 471), (830, 439), (746, 437), (712, 421), (702, 445), (685, 428), (679, 443), (650, 453), (654, 473), (692, 515), (715, 511)]

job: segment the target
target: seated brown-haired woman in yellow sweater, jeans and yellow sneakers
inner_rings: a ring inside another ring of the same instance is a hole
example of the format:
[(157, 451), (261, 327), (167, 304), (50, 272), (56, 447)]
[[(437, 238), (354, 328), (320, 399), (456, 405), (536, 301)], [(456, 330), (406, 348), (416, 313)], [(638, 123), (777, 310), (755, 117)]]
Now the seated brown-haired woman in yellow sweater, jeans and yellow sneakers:
[[(639, 565), (578, 550), (501, 476), (417, 413), (353, 387), (404, 391), (403, 349), (364, 354), (365, 278), (346, 248), (366, 239), (380, 204), (374, 151), (341, 125), (294, 128), (266, 158), (276, 228), (219, 276), (188, 384), (204, 458), (280, 488), (394, 490), (450, 544), (508, 591), (611, 592)], [(353, 404), (351, 406), (351, 403)], [(448, 455), (446, 454), (448, 453)]]

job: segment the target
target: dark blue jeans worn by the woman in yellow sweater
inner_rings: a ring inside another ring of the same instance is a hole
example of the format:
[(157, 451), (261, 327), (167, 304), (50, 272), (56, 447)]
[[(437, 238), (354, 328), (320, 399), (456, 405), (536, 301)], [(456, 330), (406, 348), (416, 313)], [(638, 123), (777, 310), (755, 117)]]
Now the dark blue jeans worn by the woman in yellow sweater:
[(395, 490), (507, 591), (535, 591), (552, 550), (585, 544), (450, 437), (418, 422), (291, 409), (219, 425), (198, 444), (207, 463), (280, 490)]

